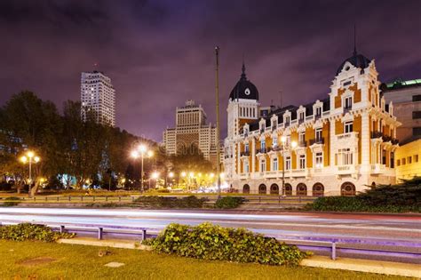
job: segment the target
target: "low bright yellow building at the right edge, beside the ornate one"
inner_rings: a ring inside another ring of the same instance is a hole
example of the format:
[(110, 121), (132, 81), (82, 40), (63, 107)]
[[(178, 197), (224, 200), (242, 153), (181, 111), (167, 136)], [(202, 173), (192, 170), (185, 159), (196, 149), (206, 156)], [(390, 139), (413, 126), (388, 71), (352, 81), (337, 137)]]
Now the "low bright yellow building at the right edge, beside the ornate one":
[(412, 179), (416, 176), (421, 176), (421, 139), (396, 150), (396, 178)]

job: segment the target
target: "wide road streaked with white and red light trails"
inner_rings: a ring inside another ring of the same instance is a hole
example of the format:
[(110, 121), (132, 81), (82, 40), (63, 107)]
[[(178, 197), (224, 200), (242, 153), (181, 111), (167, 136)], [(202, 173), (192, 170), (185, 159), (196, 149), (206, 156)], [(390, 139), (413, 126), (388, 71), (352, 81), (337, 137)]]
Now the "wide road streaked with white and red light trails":
[(164, 228), (171, 222), (195, 225), (210, 221), (249, 228), (268, 236), (380, 238), (421, 244), (421, 216), (307, 212), (214, 212), (131, 209), (0, 208), (0, 220), (63, 222)]

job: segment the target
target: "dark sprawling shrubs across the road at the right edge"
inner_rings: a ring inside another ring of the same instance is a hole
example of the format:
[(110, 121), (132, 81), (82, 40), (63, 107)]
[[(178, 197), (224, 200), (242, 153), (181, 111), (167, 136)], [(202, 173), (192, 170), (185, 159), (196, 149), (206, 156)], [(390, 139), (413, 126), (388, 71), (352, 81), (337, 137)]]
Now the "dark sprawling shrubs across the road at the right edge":
[(381, 185), (357, 196), (325, 196), (306, 210), (342, 212), (421, 212), (421, 178)]

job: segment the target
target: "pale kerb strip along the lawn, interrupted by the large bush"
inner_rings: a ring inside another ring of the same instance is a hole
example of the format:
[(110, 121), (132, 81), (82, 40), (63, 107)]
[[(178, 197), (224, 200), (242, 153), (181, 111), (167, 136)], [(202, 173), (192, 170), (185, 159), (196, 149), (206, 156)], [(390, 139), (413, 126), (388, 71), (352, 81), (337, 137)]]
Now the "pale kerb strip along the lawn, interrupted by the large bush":
[[(123, 249), (137, 249), (137, 250), (151, 250), (149, 246), (139, 243), (139, 241), (129, 240), (98, 240), (89, 237), (75, 237), (72, 239), (60, 239), (60, 244), (81, 244), (100, 247), (112, 247)], [(417, 264), (408, 264), (392, 261), (380, 260), (360, 260), (338, 258), (337, 260), (330, 260), (329, 257), (312, 256), (309, 259), (302, 260), (301, 266), (313, 268), (330, 268), (352, 270), (368, 273), (385, 274), (392, 276), (407, 276), (421, 279), (421, 266)]]

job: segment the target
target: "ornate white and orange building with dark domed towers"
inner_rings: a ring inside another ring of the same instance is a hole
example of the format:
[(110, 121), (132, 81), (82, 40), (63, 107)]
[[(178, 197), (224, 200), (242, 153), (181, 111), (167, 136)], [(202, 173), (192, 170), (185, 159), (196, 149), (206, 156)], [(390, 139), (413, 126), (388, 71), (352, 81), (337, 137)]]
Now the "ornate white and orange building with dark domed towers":
[(374, 60), (353, 52), (325, 100), (266, 112), (243, 66), (227, 108), (227, 182), (243, 193), (287, 196), (351, 196), (394, 183), (400, 123), (377, 76)]

